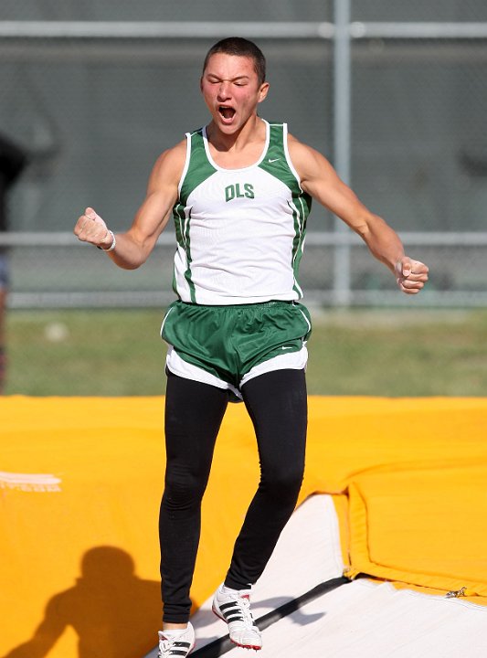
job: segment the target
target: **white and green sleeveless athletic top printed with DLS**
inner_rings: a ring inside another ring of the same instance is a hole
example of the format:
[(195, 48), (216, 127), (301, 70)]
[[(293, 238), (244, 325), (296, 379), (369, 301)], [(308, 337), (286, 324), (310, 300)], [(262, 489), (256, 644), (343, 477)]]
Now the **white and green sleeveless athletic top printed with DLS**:
[(311, 197), (291, 164), (287, 124), (266, 123), (257, 163), (224, 169), (206, 128), (186, 133), (185, 169), (173, 208), (173, 288), (183, 302), (298, 300), (297, 281)]

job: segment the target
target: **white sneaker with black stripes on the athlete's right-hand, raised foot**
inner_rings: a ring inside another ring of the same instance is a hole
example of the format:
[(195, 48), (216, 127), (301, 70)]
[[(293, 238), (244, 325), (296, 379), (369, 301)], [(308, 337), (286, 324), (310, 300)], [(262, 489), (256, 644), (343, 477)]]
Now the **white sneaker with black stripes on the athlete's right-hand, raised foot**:
[(250, 590), (240, 589), (227, 593), (223, 585), (215, 592), (212, 610), (217, 617), (228, 623), (230, 640), (244, 649), (262, 648), (260, 631), (250, 612)]

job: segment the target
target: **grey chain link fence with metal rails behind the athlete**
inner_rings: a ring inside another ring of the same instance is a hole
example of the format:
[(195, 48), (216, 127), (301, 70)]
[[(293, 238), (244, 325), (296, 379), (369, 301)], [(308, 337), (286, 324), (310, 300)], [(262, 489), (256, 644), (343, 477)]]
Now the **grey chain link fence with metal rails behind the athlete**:
[[(3, 0), (0, 132), (30, 160), (9, 196), (10, 230), (0, 233), (10, 308), (161, 307), (173, 299), (172, 228), (130, 272), (71, 230), (87, 206), (114, 230), (130, 225), (157, 156), (206, 121), (202, 61), (230, 34), (252, 38), (268, 58), (262, 115), (289, 122), (325, 154), (430, 266), (428, 290), (412, 302), (315, 204), (302, 260), (305, 302), (484, 306), (484, 0)], [(340, 69), (344, 52), (349, 66)]]

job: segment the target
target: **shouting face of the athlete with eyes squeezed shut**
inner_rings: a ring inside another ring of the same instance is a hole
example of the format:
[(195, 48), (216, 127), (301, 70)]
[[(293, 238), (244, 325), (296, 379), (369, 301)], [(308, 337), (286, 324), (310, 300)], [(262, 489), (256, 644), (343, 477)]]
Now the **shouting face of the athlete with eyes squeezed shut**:
[(209, 58), (201, 78), (201, 91), (213, 122), (223, 133), (238, 132), (257, 113), (269, 84), (259, 85), (251, 58), (217, 53)]

